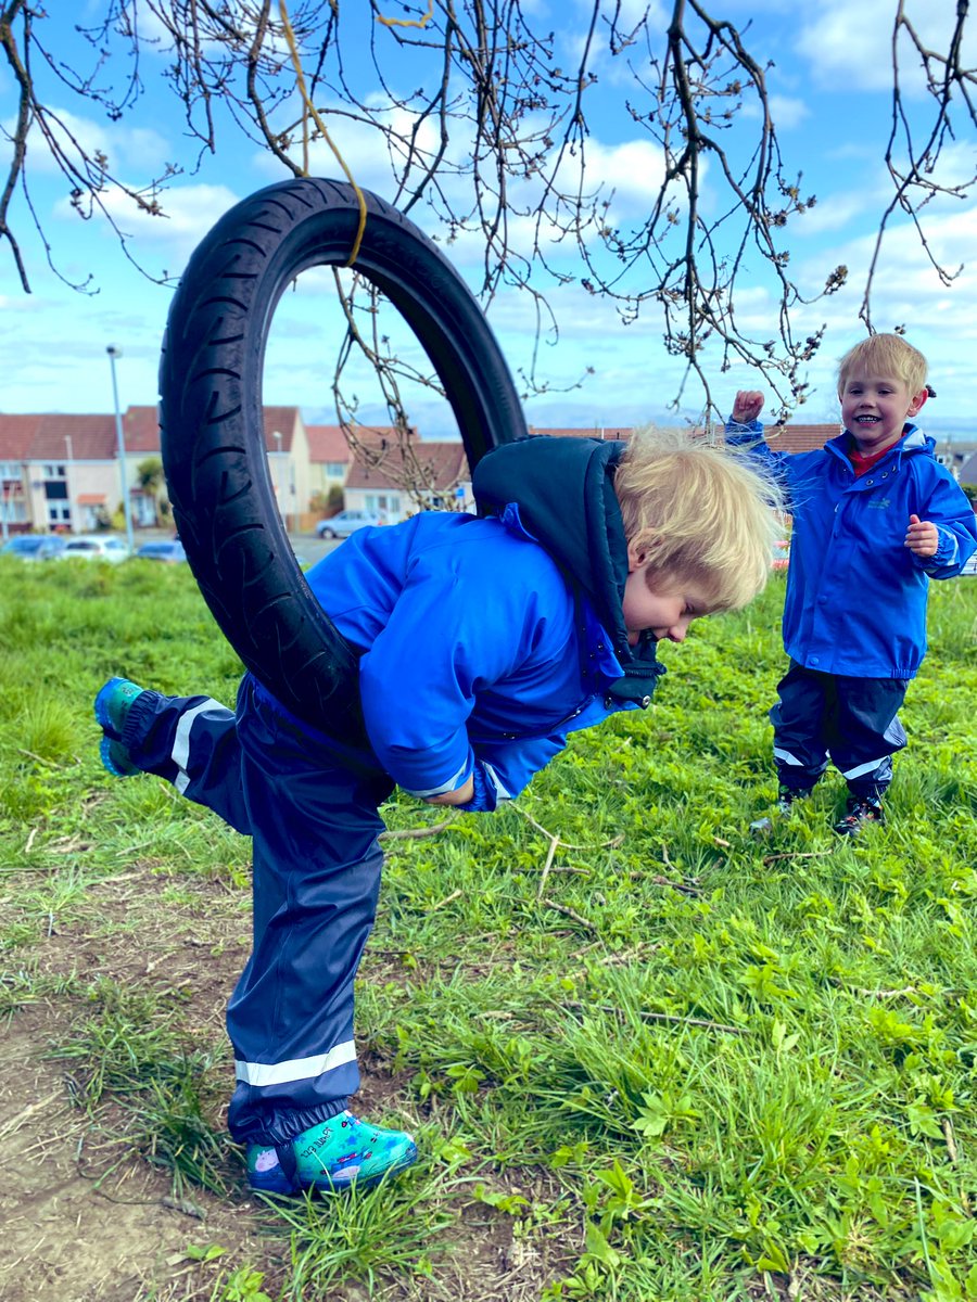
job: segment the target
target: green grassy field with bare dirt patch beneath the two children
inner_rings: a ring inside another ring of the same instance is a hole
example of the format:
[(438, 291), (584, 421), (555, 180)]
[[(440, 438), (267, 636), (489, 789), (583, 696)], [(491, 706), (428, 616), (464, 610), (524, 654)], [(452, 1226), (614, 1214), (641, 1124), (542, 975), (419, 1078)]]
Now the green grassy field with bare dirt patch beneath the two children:
[(109, 779), (90, 704), (113, 672), (231, 703), (234, 654), (185, 569), (4, 564), (4, 1298), (977, 1298), (977, 579), (933, 587), (855, 842), (836, 773), (748, 833), (782, 599), (696, 625), (517, 807), (386, 807), (357, 1104), (421, 1160), (270, 1207), (223, 1131), (249, 844)]

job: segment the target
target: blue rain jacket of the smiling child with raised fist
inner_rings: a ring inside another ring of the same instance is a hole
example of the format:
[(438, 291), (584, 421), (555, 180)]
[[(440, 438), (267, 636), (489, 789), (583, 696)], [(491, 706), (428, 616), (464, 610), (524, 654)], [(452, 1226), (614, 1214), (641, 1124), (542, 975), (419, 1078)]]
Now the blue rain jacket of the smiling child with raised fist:
[[(967, 496), (912, 424), (856, 478), (844, 432), (815, 452), (774, 452), (758, 421), (729, 422), (726, 441), (782, 479), (793, 516), (784, 600), (784, 650), (823, 673), (912, 678), (926, 654), (930, 578), (952, 578), (977, 548)], [(905, 547), (909, 516), (939, 530), (937, 555)]]

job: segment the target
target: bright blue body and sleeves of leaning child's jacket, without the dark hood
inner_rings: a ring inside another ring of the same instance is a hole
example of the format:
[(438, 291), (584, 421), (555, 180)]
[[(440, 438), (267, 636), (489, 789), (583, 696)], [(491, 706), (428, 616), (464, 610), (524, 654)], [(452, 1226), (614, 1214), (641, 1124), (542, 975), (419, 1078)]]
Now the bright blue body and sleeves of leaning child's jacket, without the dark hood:
[(621, 668), (610, 639), (586, 607), (577, 628), (569, 583), (515, 508), (360, 529), (307, 579), (363, 648), (367, 736), (413, 796), (457, 789), (478, 758), (496, 801), (513, 797), (572, 729), (611, 712), (603, 697)]

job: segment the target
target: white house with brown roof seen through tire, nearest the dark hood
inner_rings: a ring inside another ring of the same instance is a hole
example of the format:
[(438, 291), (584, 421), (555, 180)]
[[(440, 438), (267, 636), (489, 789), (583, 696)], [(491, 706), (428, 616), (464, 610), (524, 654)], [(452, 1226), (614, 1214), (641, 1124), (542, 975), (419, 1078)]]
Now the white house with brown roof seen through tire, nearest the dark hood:
[(343, 493), (348, 510), (380, 512), (396, 523), (423, 509), (474, 509), (462, 443), (416, 437), (403, 443), (388, 434), (375, 445), (357, 448)]

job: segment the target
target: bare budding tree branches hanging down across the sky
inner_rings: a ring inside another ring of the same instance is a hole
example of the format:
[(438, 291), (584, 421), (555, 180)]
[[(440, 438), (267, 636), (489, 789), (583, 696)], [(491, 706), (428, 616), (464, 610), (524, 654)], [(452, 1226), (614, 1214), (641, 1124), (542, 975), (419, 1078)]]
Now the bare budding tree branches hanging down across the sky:
[[(905, 0), (892, 4), (885, 158), (894, 193), (864, 288), (861, 319), (869, 329), (892, 219), (914, 224), (934, 273), (948, 284), (959, 268), (937, 255), (927, 207), (969, 198), (977, 185), (973, 174), (960, 180), (938, 165), (977, 125), (977, 72), (963, 64), (969, 0), (957, 0), (946, 49), (924, 43)], [(74, 96), (119, 121), (143, 95), (141, 55), (152, 48), (165, 56), (164, 76), (194, 142), (190, 171), (228, 130), (270, 151), (293, 174), (306, 171), (323, 124), (340, 147), (344, 134), (366, 133), (386, 150), (384, 193), (399, 208), (423, 214), (448, 246), (478, 241), (482, 302), (509, 290), (529, 296), (535, 348), (522, 371), (528, 392), (548, 388), (537, 365), (541, 344), (559, 339), (548, 296), (577, 284), (614, 305), (625, 324), (649, 314), (660, 322), (667, 352), (684, 366), (676, 406), (694, 378), (706, 409), (715, 411), (714, 378), (735, 363), (754, 367), (774, 391), (775, 418), (804, 402), (805, 368), (823, 327), (797, 335), (797, 310), (835, 293), (848, 268), (826, 266), (813, 296), (795, 279), (789, 236), (817, 199), (802, 191), (800, 171), (782, 156), (762, 33), (715, 17), (707, 0), (672, 0), (664, 31), (650, 3), (636, 12), (620, 0), (590, 0), (576, 27), (572, 66), (564, 69), (556, 38), (539, 30), (535, 7), (524, 0), (294, 0), (289, 9), (309, 87), (301, 103), (272, 0), (106, 0), (94, 26), (76, 29), (89, 62), (61, 57), (60, 46), (53, 56), (46, 43), (53, 20), (42, 7), (0, 0), (0, 46), (18, 89), (16, 121), (7, 129), (12, 150), (0, 190), (0, 241), (25, 290), (30, 258), (14, 230), (21, 202), (55, 266), (29, 189), (34, 151), (55, 161), (81, 217), (109, 223), (126, 256), (119, 201), (165, 216), (167, 185), (182, 168), (173, 163), (149, 180), (122, 181), (117, 164), (72, 130), (61, 99)], [(927, 113), (904, 91), (907, 59), (921, 73)], [(660, 164), (645, 212), (621, 216), (614, 190), (594, 181), (591, 120), (607, 76), (629, 78), (625, 104), (634, 134), (651, 146), (651, 165)], [(404, 90), (408, 77), (417, 83)], [(750, 333), (736, 310), (746, 275), (776, 305), (763, 337)], [(380, 375), (391, 426), (404, 434), (408, 456), (404, 381), (434, 380), (389, 355), (375, 292), (354, 280), (337, 293), (348, 323), (333, 385), (340, 419), (356, 427), (356, 402), (343, 397), (341, 375), (358, 352)], [(353, 324), (361, 312), (373, 314), (369, 328)]]

